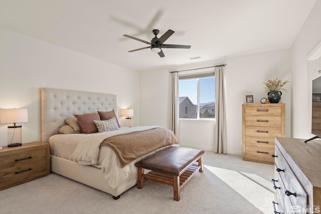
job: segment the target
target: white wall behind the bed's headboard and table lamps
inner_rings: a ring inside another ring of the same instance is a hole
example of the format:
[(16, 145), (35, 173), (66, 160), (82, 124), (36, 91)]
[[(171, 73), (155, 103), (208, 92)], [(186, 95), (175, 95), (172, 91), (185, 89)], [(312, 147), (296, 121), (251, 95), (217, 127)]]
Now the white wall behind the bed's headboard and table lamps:
[[(29, 121), (19, 124), (23, 143), (41, 139), (40, 88), (116, 94), (117, 112), (133, 108), (138, 125), (138, 83), (133, 70), (0, 28), (0, 108), (28, 108)], [(0, 124), (0, 145), (8, 125)]]

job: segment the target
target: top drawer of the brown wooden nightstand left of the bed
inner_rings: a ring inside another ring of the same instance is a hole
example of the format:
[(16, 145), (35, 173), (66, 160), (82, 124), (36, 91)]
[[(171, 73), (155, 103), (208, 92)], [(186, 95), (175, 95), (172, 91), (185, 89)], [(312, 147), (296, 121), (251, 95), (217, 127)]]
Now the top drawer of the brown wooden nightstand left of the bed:
[(0, 157), (0, 169), (46, 159), (46, 148)]

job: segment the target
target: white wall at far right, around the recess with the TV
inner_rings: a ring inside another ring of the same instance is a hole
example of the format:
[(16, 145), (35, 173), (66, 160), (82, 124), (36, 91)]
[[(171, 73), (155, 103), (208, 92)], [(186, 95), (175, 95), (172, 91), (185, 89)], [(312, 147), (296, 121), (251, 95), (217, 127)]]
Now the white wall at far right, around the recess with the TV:
[(317, 70), (310, 69), (308, 54), (321, 42), (321, 1), (305, 21), (292, 48), (292, 137), (310, 138), (311, 135), (311, 93), (312, 80), (319, 76)]

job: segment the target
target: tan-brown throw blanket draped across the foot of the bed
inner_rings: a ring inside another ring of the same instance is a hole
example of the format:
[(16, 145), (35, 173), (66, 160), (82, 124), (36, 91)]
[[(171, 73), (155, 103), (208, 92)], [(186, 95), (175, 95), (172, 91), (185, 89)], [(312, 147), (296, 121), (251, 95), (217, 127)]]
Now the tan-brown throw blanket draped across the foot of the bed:
[(173, 131), (164, 128), (116, 135), (101, 143), (114, 150), (121, 167), (144, 154), (172, 144), (178, 144), (178, 141)]

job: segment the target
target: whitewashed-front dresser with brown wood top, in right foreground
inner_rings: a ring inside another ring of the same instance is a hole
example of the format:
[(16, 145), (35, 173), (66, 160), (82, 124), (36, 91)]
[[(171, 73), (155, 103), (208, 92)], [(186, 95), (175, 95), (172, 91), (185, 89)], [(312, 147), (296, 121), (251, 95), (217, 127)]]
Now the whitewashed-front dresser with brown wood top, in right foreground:
[(321, 141), (275, 139), (274, 213), (321, 212)]

